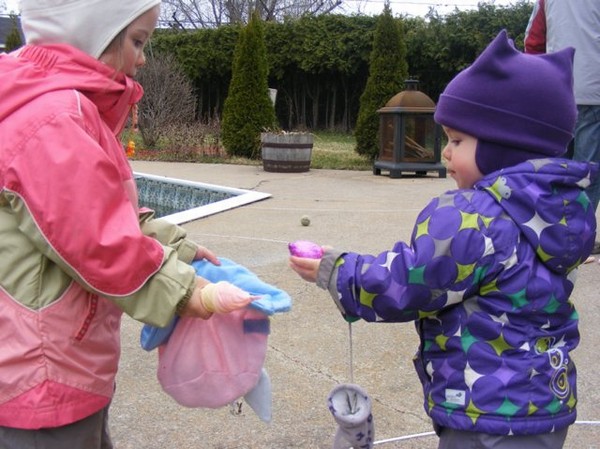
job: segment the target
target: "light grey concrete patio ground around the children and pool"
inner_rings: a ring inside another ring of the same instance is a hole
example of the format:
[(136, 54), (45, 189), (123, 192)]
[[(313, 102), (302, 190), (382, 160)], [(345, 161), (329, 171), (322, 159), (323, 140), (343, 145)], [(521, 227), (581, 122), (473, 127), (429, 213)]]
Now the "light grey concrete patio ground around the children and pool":
[[(157, 353), (139, 346), (141, 324), (123, 320), (123, 354), (111, 429), (117, 449), (327, 449), (335, 422), (326, 399), (349, 382), (348, 324), (328, 294), (302, 281), (287, 265), (287, 242), (305, 239), (377, 253), (410, 237), (417, 213), (435, 195), (454, 188), (435, 174), (390, 179), (363, 171), (267, 173), (260, 166), (134, 162), (136, 171), (268, 192), (271, 198), (184, 225), (218, 255), (247, 266), (286, 290), (292, 311), (276, 315), (265, 367), (273, 385), (273, 420), (260, 421), (244, 405), (207, 410), (179, 406), (156, 380)], [(304, 227), (300, 218), (308, 215)], [(600, 447), (600, 264), (579, 270), (574, 302), (581, 343), (578, 420), (565, 448)], [(437, 447), (412, 367), (417, 336), (411, 323), (353, 325), (354, 382), (373, 400), (376, 447)], [(406, 439), (397, 440), (406, 436)], [(394, 439), (394, 441), (387, 441)]]

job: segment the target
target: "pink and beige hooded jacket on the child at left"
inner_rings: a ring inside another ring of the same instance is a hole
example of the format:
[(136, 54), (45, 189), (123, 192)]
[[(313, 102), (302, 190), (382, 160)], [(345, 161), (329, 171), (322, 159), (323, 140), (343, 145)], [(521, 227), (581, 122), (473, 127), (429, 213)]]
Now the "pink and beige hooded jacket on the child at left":
[(164, 326), (197, 246), (140, 221), (119, 140), (142, 96), (68, 45), (0, 55), (0, 425), (56, 427), (106, 406), (122, 311)]

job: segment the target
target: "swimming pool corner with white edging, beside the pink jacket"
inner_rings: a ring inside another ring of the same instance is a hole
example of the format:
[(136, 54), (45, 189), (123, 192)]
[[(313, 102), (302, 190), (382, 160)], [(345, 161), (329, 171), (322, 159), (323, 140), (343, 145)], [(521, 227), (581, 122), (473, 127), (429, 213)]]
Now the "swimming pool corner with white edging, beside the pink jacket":
[(134, 172), (139, 204), (157, 217), (182, 224), (269, 198), (271, 195), (166, 176)]

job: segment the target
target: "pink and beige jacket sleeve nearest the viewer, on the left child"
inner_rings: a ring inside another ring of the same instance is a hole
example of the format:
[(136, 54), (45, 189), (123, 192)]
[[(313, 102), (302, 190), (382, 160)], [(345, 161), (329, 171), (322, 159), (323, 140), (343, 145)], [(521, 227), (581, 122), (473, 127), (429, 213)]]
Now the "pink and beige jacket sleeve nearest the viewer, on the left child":
[(195, 272), (142, 232), (110, 148), (116, 141), (94, 135), (100, 126), (77, 113), (50, 116), (14, 148), (5, 190), (19, 228), (48, 259), (134, 318), (164, 325), (191, 294)]

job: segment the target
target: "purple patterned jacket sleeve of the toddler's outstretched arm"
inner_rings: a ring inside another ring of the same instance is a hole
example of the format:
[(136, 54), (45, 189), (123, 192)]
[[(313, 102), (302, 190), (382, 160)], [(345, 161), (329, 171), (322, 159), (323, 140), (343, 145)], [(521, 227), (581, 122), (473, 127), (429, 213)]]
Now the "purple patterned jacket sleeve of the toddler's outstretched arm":
[(484, 256), (493, 251), (479, 231), (484, 220), (450, 198), (437, 198), (420, 213), (410, 245), (398, 242), (376, 256), (327, 252), (317, 284), (345, 316), (367, 321), (413, 321), (474, 294)]

